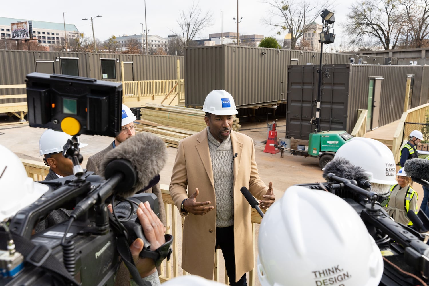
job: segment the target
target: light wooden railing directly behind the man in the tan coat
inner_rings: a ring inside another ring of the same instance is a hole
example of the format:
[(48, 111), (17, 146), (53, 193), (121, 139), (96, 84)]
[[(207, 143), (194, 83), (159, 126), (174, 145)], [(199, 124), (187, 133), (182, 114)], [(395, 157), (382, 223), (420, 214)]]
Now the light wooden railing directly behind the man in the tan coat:
[[(33, 178), (33, 180), (35, 181), (43, 181), (49, 172), (49, 167), (45, 166), (42, 162), (24, 160), (24, 159), (21, 159), (21, 162), (24, 164), (24, 167), (27, 171), (27, 175), (30, 178)], [(164, 201), (164, 208), (166, 212), (166, 224), (167, 224), (166, 233), (171, 234), (174, 237), (173, 244), (172, 244), (172, 248), (173, 248), (172, 256), (169, 261), (165, 259), (163, 261), (163, 264), (161, 265), (160, 281), (165, 282), (174, 277), (185, 275), (187, 273), (183, 269), (179, 268), (179, 256), (178, 256), (179, 243), (181, 242), (181, 239), (182, 239), (182, 229), (183, 229), (184, 218), (181, 217), (178, 209), (175, 207), (174, 202), (171, 199), (171, 196), (169, 193), (169, 186), (165, 184), (160, 184), (160, 187), (161, 187), (162, 197)], [(257, 213), (257, 211), (253, 209), (251, 214), (251, 220), (252, 220), (252, 233), (253, 233), (253, 247), (256, 253), (256, 241), (257, 241), (256, 228), (257, 228), (257, 224), (261, 223), (261, 217)], [(255, 269), (256, 267), (254, 268), (254, 270), (249, 272), (249, 280), (248, 280), (249, 286), (255, 285), (255, 279), (256, 279)], [(224, 270), (224, 281), (220, 281), (221, 275), (219, 274), (220, 273), (219, 270), (222, 271), (222, 269), (219, 268), (219, 251), (216, 251), (214, 280), (228, 284), (228, 277), (227, 277), (226, 271)]]

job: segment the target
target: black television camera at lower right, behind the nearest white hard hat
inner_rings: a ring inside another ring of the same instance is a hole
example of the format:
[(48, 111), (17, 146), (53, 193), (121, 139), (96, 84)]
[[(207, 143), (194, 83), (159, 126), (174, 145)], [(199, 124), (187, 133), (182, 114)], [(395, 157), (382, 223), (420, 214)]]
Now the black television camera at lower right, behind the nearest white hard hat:
[(429, 281), (428, 217), (422, 211), (415, 214), (410, 210), (407, 216), (413, 226), (396, 223), (384, 211), (378, 194), (371, 191), (367, 182), (364, 187), (356, 180), (340, 178), (333, 173), (326, 174), (326, 178), (327, 183), (298, 185), (334, 193), (360, 215), (383, 255), (384, 271), (379, 285), (426, 285)]

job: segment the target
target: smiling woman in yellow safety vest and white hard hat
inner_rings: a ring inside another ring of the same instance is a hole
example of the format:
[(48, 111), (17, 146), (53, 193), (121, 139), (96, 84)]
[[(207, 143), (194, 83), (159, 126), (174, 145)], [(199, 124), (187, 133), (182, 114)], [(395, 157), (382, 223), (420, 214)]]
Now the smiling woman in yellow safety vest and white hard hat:
[(411, 178), (407, 177), (404, 168), (396, 174), (398, 184), (390, 187), (389, 202), (384, 207), (385, 211), (393, 217), (397, 223), (411, 226), (413, 223), (407, 217), (407, 212), (413, 210), (417, 214), (417, 192), (410, 187)]

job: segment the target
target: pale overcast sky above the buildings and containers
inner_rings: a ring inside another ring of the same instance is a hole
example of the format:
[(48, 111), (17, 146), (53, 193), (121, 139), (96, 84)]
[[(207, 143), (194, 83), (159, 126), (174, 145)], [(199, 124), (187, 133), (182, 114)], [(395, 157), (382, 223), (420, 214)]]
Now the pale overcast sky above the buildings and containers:
[[(333, 45), (341, 42), (340, 24), (344, 23), (348, 11), (349, 1), (336, 0), (335, 33), (337, 38)], [(197, 1), (196, 1), (197, 2)], [(91, 21), (82, 21), (83, 18), (103, 17), (94, 20), (94, 33), (97, 39), (104, 41), (110, 36), (122, 36), (123, 34), (142, 34), (142, 25), (145, 23), (144, 0), (128, 1), (92, 1), (74, 0), (58, 1), (45, 0), (43, 2), (33, 0), (2, 1), (1, 17), (22, 18), (35, 21), (48, 21), (63, 23), (63, 12), (66, 24), (74, 24), (79, 32), (92, 38)], [(149, 35), (167, 37), (171, 30), (179, 31), (177, 20), (180, 19), (180, 11), (188, 11), (192, 6), (192, 0), (146, 0), (146, 15)], [(213, 13), (213, 25), (203, 30), (199, 39), (208, 38), (209, 33), (220, 33), (223, 23), (224, 32), (236, 32), (237, 24), (233, 17), (237, 17), (237, 2), (235, 0), (200, 0), (199, 6), (203, 12)], [(261, 18), (267, 15), (269, 5), (260, 0), (239, 0), (239, 18), (243, 17), (239, 24), (240, 34), (262, 34), (283, 39), (286, 32), (280, 36), (276, 30), (271, 30), (261, 23)], [(221, 12), (223, 11), (223, 21)], [(321, 18), (318, 18), (321, 23)], [(333, 46), (332, 45), (332, 46)]]

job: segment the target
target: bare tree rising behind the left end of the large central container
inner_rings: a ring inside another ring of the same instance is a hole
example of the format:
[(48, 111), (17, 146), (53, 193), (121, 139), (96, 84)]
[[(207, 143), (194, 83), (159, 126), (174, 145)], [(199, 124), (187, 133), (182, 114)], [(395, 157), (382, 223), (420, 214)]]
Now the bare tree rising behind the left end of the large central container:
[(184, 10), (180, 12), (180, 20), (177, 20), (180, 32), (171, 31), (178, 35), (181, 46), (184, 49), (202, 30), (212, 24), (212, 19), (212, 13), (202, 12), (201, 8), (199, 8), (199, 2), (195, 3), (193, 1), (192, 7), (189, 8), (188, 12)]

